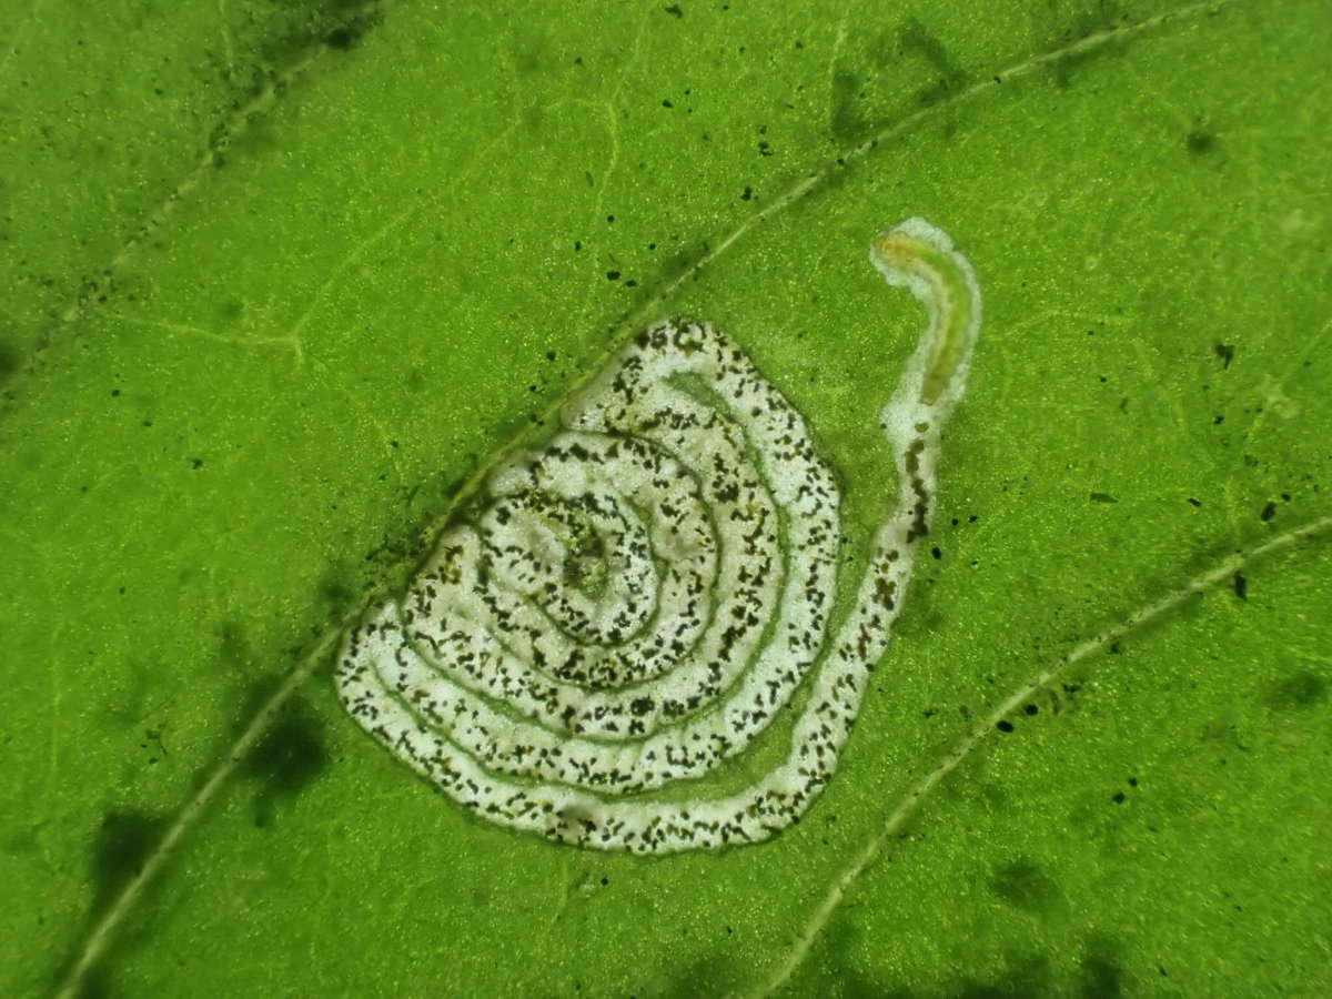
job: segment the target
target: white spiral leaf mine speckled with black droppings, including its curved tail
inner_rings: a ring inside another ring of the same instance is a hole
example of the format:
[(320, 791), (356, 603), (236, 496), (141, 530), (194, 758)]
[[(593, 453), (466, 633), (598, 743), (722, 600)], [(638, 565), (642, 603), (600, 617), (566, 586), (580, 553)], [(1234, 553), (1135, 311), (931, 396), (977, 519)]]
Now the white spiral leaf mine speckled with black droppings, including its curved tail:
[(898, 497), (859, 574), (803, 417), (726, 336), (667, 320), (348, 633), (352, 717), (478, 817), (555, 842), (670, 852), (797, 821), (887, 647), (980, 321), (970, 264), (928, 222), (871, 256), (930, 322), (883, 410)]

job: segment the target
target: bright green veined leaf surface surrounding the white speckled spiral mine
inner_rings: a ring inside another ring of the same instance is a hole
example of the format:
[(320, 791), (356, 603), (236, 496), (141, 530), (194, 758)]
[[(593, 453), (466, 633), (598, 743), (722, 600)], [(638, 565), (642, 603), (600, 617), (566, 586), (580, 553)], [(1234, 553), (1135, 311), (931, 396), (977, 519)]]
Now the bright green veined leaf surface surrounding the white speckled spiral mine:
[[(4, 32), (7, 995), (91, 934), (117, 995), (1325, 982), (1325, 543), (986, 727), (1332, 513), (1325, 4), (48, 0)], [(803, 822), (555, 847), (346, 718), (310, 650), (645, 320), (743, 344), (872, 521), (923, 314), (867, 250), (908, 216), (984, 325), (934, 558)]]

